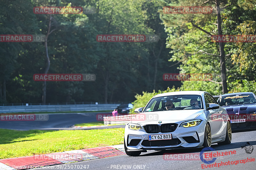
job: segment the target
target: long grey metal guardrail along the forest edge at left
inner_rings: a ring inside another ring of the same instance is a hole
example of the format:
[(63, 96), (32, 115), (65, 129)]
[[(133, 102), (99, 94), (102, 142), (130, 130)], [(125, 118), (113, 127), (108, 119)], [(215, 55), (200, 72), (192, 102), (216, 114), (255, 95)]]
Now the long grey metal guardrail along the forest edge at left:
[(68, 105), (28, 105), (0, 106), (0, 113), (15, 112), (60, 112), (60, 111), (101, 111), (114, 110), (120, 104), (68, 104)]

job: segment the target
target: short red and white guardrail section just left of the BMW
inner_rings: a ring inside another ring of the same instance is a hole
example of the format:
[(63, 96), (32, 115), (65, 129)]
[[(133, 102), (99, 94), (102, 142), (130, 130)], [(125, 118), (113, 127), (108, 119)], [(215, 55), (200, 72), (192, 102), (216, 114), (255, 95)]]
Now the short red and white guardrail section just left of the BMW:
[(108, 116), (108, 117), (103, 117), (103, 121), (104, 121), (104, 124), (124, 124), (124, 123), (128, 123), (134, 116), (136, 116), (136, 114), (124, 115), (124, 116)]

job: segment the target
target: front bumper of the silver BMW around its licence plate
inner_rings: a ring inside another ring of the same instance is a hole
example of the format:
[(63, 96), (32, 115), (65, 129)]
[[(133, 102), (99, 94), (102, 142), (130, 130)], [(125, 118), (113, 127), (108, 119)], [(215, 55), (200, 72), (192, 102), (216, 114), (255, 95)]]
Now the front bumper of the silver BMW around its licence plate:
[[(178, 127), (173, 132), (168, 133), (147, 133), (143, 129), (140, 130), (130, 130), (128, 125), (125, 126), (124, 139), (128, 151), (135, 150), (163, 150), (163, 149), (176, 149), (176, 148), (190, 148), (190, 147), (200, 147), (204, 142), (204, 128), (205, 121), (202, 121), (199, 125), (195, 127), (179, 127), (181, 123), (168, 121), (165, 123), (176, 123)], [(160, 125), (160, 124), (159, 124)], [(156, 134), (172, 134), (172, 139), (167, 140), (148, 140), (148, 135)]]

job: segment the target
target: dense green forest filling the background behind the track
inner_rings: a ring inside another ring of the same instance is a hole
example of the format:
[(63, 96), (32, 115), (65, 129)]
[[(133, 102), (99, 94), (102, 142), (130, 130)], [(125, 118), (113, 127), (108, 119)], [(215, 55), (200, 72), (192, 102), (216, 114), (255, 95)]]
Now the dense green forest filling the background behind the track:
[[(78, 6), (92, 13), (36, 14), (34, 7)], [(168, 13), (166, 6), (210, 6)], [(0, 104), (132, 102), (143, 91), (256, 87), (256, 0), (3, 0), (0, 34), (45, 35), (45, 42), (0, 42)], [(155, 42), (98, 42), (97, 35), (157, 35)], [(34, 81), (34, 74), (95, 74), (95, 81)], [(212, 74), (210, 81), (164, 81), (165, 73)]]

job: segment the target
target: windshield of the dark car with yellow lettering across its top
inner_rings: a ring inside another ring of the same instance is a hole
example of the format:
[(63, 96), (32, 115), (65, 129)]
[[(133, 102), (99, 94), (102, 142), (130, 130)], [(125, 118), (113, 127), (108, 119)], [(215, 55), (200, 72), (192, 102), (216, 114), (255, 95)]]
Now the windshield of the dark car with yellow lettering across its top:
[(219, 99), (218, 103), (220, 106), (256, 103), (256, 98), (252, 94), (225, 95), (221, 97), (221, 100)]

